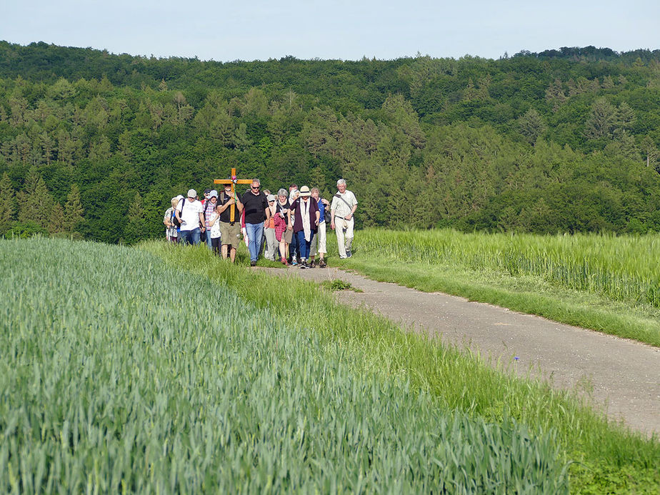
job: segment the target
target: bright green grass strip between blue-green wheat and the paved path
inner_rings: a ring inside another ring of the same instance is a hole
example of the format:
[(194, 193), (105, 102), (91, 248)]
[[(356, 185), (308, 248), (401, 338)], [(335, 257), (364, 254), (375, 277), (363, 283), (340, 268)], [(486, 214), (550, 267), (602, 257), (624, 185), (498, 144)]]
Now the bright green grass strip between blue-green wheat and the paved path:
[(196, 276), (227, 284), (245, 301), (268, 309), (281, 321), (294, 322), (301, 331), (313, 329), (321, 346), (332, 349), (330, 355), (346, 361), (357, 376), (404, 380), (411, 391), (434, 396), (442, 409), (489, 422), (513, 416), (531, 431), (555, 431), (564, 455), (579, 461), (571, 464), (576, 491), (652, 493), (660, 486), (657, 439), (609, 424), (567, 394), (494, 371), (479, 359), (401, 331), (379, 316), (341, 306), (309, 282), (242, 269), (215, 259), (205, 249), (160, 242), (141, 249), (172, 269), (185, 266)]

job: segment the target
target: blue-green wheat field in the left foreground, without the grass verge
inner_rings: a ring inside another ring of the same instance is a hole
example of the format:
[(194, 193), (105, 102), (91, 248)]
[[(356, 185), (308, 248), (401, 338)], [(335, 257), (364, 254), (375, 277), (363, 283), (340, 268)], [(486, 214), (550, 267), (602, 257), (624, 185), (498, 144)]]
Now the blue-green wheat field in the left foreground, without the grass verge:
[(1, 492), (568, 491), (552, 431), (355, 374), (224, 282), (54, 239), (0, 260)]

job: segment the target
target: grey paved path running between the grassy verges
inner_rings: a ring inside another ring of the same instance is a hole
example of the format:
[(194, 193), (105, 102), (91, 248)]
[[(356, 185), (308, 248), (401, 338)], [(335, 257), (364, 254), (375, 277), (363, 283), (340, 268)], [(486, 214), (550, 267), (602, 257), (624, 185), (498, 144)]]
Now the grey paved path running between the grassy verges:
[(510, 364), (521, 375), (540, 374), (556, 388), (588, 393), (610, 417), (660, 435), (660, 349), (656, 347), (339, 269), (260, 270), (319, 282), (350, 282), (364, 292), (337, 292), (344, 304), (364, 305), (408, 328), (439, 334), (444, 342), (467, 346), (491, 362)]

